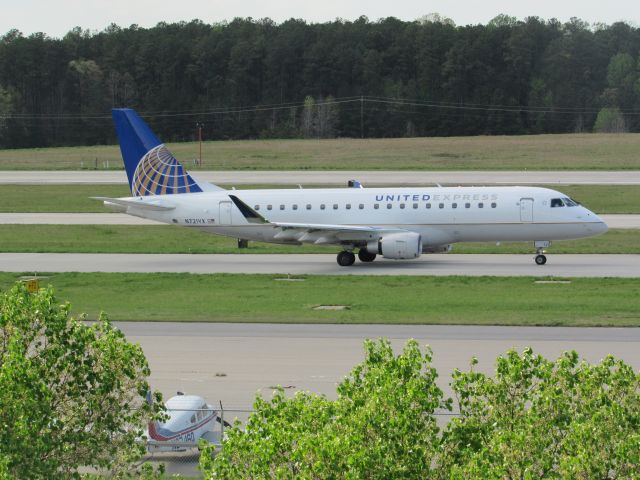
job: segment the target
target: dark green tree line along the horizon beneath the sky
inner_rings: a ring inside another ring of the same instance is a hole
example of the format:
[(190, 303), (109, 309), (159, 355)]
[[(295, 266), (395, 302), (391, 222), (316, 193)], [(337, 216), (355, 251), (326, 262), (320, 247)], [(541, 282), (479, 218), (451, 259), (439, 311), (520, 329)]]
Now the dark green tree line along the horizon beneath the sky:
[(0, 37), (0, 148), (114, 143), (109, 110), (182, 141), (640, 129), (640, 28), (499, 15), (237, 18)]

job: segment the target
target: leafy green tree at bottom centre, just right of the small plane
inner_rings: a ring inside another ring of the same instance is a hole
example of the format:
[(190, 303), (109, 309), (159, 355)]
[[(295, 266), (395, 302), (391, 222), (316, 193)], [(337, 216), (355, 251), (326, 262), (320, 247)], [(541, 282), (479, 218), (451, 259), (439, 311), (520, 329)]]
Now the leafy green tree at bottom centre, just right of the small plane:
[(338, 386), (338, 398), (299, 392), (256, 398), (243, 430), (200, 460), (205, 478), (431, 478), (439, 428), (451, 408), (436, 385), (431, 351), (415, 340), (394, 356), (388, 340), (365, 342), (365, 360)]

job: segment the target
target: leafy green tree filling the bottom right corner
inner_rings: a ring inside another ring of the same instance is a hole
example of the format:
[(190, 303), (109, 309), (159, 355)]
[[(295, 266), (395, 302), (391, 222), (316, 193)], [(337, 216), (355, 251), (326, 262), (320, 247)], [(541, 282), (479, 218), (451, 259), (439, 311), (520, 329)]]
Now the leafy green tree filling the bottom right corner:
[(452, 387), (461, 416), (444, 432), (444, 477), (640, 476), (640, 375), (621, 360), (510, 351), (495, 376), (456, 370)]

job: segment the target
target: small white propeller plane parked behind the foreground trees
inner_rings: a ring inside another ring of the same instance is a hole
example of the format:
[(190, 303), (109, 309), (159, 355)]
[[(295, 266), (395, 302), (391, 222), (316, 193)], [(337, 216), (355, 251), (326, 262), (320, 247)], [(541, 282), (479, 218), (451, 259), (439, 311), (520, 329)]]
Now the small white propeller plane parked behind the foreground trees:
[(147, 449), (150, 452), (183, 452), (197, 448), (201, 439), (220, 445), (222, 427), (231, 426), (197, 395), (178, 392), (167, 400), (165, 407), (168, 415), (165, 421), (149, 422)]

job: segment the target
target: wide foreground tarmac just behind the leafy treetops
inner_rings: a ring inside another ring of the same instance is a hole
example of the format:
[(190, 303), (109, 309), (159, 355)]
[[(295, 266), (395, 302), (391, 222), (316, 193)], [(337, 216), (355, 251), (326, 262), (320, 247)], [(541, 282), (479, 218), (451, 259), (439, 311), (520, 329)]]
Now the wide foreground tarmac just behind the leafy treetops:
[[(447, 325), (277, 325), (116, 322), (140, 343), (151, 384), (165, 396), (177, 390), (203, 395), (226, 409), (248, 409), (256, 391), (272, 386), (335, 397), (335, 385), (363, 359), (365, 338), (387, 337), (399, 351), (408, 338), (431, 345), (439, 383), (447, 395), (454, 368), (493, 371), (509, 348), (531, 346), (556, 358), (575, 349), (591, 362), (614, 354), (640, 368), (640, 329), (480, 327)], [(218, 374), (218, 375), (216, 375)], [(224, 376), (223, 376), (224, 375)], [(238, 413), (240, 416), (245, 414)]]

